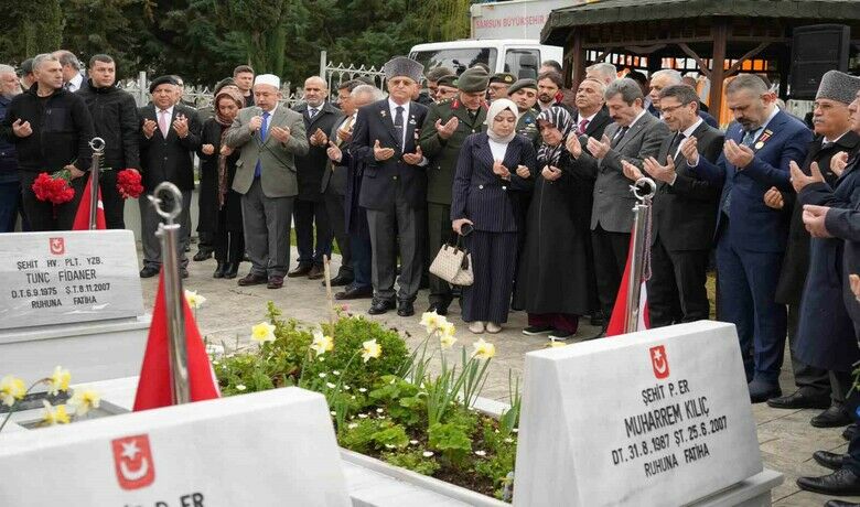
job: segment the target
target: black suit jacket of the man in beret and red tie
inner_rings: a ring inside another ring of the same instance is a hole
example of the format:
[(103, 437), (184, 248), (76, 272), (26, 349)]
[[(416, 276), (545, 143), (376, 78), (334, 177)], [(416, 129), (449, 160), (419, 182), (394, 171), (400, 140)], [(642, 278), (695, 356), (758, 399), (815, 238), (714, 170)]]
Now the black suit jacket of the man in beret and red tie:
[[(158, 123), (155, 106), (151, 103), (138, 110), (141, 122), (150, 119)], [(179, 115), (189, 119), (189, 134), (180, 138), (173, 130), (173, 120)], [(160, 183), (169, 181), (183, 192), (194, 190), (194, 158), (193, 153), (200, 148), (201, 125), (197, 111), (182, 105), (173, 106), (173, 116), (170, 119), (170, 131), (166, 139), (161, 134), (161, 129), (155, 128), (152, 138), (147, 139), (141, 130), (140, 134), (140, 168), (143, 172), (143, 187), (148, 193), (155, 190)]]

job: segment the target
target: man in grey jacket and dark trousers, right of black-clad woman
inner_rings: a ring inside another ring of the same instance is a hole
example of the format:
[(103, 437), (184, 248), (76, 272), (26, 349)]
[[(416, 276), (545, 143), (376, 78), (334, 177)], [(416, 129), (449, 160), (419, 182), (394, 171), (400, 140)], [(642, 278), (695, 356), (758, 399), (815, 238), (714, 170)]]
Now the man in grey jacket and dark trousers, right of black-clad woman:
[(636, 204), (622, 162), (642, 169), (645, 159), (657, 157), (669, 128), (643, 107), (642, 88), (633, 79), (612, 82), (604, 97), (614, 123), (606, 127), (601, 139), (588, 139), (588, 151), (583, 150), (581, 158), (596, 177), (591, 213), (594, 271), (598, 299), (603, 314), (609, 316), (627, 262), (632, 209)]

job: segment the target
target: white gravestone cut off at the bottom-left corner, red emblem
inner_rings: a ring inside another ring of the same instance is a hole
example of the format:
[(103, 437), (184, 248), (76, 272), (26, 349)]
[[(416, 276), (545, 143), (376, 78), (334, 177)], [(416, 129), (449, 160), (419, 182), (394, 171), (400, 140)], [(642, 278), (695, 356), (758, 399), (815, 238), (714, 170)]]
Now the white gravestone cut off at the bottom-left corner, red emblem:
[(0, 505), (347, 507), (322, 395), (276, 389), (0, 434)]

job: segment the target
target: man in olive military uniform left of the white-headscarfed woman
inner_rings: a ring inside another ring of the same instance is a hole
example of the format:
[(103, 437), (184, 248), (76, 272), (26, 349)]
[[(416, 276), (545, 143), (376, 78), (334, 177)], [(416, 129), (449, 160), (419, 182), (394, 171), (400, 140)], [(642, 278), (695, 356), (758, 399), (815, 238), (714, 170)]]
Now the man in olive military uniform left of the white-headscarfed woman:
[[(456, 98), (431, 106), (421, 128), (421, 150), (430, 159), (427, 169), (427, 216), (429, 227), (428, 254), (436, 256), (452, 237), (451, 188), (465, 138), (486, 130), (484, 96), (490, 75), (481, 67), (470, 68), (458, 78)], [(432, 257), (428, 259), (429, 266)], [(440, 315), (451, 304), (451, 285), (430, 274), (430, 309)]]

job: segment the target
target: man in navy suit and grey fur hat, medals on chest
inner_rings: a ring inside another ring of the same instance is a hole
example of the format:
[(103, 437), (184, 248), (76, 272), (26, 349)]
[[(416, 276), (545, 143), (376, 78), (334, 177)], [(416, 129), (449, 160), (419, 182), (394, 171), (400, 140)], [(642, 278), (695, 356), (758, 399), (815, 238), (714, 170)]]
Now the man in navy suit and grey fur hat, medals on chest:
[[(423, 65), (397, 56), (384, 69), (389, 97), (358, 109), (353, 133), (353, 157), (366, 164), (359, 204), (367, 208), (374, 258), (368, 313), (385, 313), (397, 299), (397, 314), (409, 316), (415, 314), (423, 268), (427, 159), (418, 139), (427, 108), (411, 101)], [(395, 294), (398, 248), (400, 290)]]

